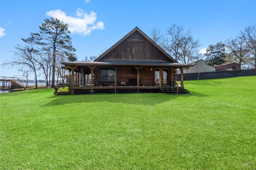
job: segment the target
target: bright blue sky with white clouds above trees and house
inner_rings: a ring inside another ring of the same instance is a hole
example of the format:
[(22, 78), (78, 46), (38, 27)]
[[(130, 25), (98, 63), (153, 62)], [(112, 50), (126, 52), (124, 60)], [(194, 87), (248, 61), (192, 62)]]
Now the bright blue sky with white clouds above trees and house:
[[(138, 26), (150, 36), (156, 28), (166, 34), (176, 23), (209, 45), (234, 38), (244, 27), (256, 24), (256, 1), (155, 0), (0, 0), (0, 63), (11, 61), (8, 47), (24, 44), (21, 38), (39, 32), (44, 19), (69, 23), (78, 61), (98, 56)], [(0, 76), (17, 76), (16, 68), (0, 67)]]

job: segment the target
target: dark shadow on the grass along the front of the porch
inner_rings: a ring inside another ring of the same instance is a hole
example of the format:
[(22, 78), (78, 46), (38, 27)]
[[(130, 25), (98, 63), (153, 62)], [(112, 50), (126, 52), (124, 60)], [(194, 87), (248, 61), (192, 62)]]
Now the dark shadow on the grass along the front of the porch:
[(177, 98), (184, 98), (184, 100), (186, 100), (186, 98), (189, 98), (190, 96), (191, 95), (168, 95), (162, 93), (54, 95), (50, 97), (54, 100), (42, 107), (98, 102), (154, 106), (170, 100), (176, 100)]

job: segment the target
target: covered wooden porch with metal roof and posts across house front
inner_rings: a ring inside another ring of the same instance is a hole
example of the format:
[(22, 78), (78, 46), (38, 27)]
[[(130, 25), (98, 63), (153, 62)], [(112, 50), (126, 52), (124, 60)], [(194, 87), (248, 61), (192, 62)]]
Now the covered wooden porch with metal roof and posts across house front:
[[(183, 72), (180, 83), (176, 81), (176, 69), (187, 64), (163, 61), (68, 62), (62, 63), (70, 73), (70, 94), (118, 94), (158, 93), (178, 94), (184, 89)], [(135, 65), (136, 64), (136, 65)], [(170, 90), (162, 90), (168, 89)]]

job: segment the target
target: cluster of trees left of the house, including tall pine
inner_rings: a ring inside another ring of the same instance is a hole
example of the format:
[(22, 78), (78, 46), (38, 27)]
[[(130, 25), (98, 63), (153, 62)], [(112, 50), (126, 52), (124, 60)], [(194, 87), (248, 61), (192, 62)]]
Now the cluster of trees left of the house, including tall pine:
[[(22, 38), (25, 45), (16, 44), (9, 48), (14, 56), (12, 61), (6, 61), (4, 66), (17, 67), (22, 72), (24, 81), (28, 81), (31, 73), (37, 86), (37, 76), (44, 75), (46, 86), (51, 84), (54, 87), (55, 77), (66, 78), (68, 71), (62, 69), (62, 62), (67, 61), (68, 57), (76, 58), (74, 47), (68, 24), (51, 18), (46, 19), (39, 26), (39, 33), (30, 33), (30, 37)], [(51, 81), (50, 81), (51, 80)]]

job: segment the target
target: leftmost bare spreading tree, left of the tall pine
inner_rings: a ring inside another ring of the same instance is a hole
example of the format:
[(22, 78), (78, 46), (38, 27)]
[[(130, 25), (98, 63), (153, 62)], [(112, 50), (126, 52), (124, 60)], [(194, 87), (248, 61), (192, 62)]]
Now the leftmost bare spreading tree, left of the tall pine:
[[(9, 48), (10, 49), (10, 48)], [(36, 62), (35, 54), (36, 50), (33, 47), (15, 45), (13, 49), (10, 49), (10, 52), (14, 53), (12, 57), (12, 61), (6, 61), (3, 63), (3, 66), (8, 66), (8, 68), (13, 68), (14, 66), (18, 66), (19, 70), (29, 70), (34, 73), (35, 81), (36, 81), (36, 89), (37, 86), (37, 71), (38, 64)]]

